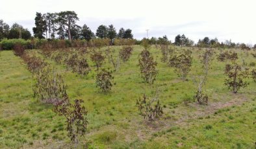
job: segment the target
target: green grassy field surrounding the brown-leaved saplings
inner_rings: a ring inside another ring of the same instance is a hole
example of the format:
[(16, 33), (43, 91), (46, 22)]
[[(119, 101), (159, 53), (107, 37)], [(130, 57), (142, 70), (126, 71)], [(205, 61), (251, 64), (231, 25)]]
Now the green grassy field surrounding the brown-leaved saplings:
[[(113, 47), (116, 55), (120, 47)], [(193, 65), (188, 81), (181, 80), (166, 63), (160, 62), (161, 52), (150, 49), (159, 75), (153, 85), (140, 77), (138, 55), (142, 47), (134, 46), (129, 62), (115, 72), (116, 85), (110, 93), (96, 87), (92, 71), (85, 78), (55, 65), (68, 85), (70, 98), (83, 98), (88, 110), (88, 132), (81, 137), (79, 148), (254, 148), (256, 142), (256, 83), (231, 93), (224, 86), (224, 62), (215, 58), (207, 81), (209, 105), (192, 99), (196, 86), (192, 75), (200, 70), (198, 49), (192, 49)], [(219, 52), (219, 51), (218, 51)], [(217, 52), (217, 53), (218, 53)], [(237, 50), (239, 60), (248, 65), (255, 62), (250, 52)], [(216, 56), (215, 56), (216, 57)], [(92, 63), (90, 62), (92, 65)], [(104, 67), (111, 67), (105, 61)], [(255, 66), (254, 66), (255, 67)], [(253, 66), (250, 66), (252, 69)], [(94, 69), (94, 68), (93, 68)], [(66, 137), (65, 119), (32, 97), (32, 75), (22, 60), (12, 51), (0, 56), (0, 148), (71, 148)], [(138, 115), (136, 99), (143, 93), (154, 95), (164, 105), (164, 115), (148, 122)]]

